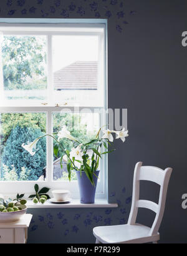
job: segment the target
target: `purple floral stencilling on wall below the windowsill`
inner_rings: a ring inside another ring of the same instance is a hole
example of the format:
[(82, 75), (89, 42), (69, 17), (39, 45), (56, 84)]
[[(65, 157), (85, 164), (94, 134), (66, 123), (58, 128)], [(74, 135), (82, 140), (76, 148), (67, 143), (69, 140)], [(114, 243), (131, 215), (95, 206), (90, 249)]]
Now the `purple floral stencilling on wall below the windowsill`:
[[(36, 230), (46, 230), (46, 233), (47, 230), (54, 230), (60, 234), (59, 241), (56, 242), (61, 242), (60, 239), (63, 242), (65, 237), (72, 234), (79, 235), (85, 231), (92, 234), (93, 227), (98, 225), (126, 224), (132, 197), (125, 194), (125, 187), (120, 193), (120, 200), (115, 196), (119, 195), (118, 192), (111, 195), (118, 202), (118, 208), (113, 209), (39, 209), (39, 214), (35, 209), (29, 227), (30, 236)], [(32, 214), (31, 209), (29, 212)]]

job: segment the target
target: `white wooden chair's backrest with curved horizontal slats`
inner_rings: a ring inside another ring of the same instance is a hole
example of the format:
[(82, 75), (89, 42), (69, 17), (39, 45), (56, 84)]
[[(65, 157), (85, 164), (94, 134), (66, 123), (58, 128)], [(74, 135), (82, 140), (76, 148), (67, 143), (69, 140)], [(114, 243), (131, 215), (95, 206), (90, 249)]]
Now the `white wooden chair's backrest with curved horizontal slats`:
[[(138, 162), (135, 166), (133, 178), (133, 196), (132, 207), (128, 218), (129, 225), (135, 225), (138, 208), (146, 208), (156, 213), (155, 220), (150, 230), (150, 235), (156, 235), (160, 228), (161, 220), (165, 210), (166, 193), (170, 180), (172, 169), (166, 168), (162, 170), (153, 166), (142, 166), (142, 162)], [(149, 200), (139, 200), (140, 197), (140, 180), (149, 180), (160, 185), (160, 195), (158, 204)]]

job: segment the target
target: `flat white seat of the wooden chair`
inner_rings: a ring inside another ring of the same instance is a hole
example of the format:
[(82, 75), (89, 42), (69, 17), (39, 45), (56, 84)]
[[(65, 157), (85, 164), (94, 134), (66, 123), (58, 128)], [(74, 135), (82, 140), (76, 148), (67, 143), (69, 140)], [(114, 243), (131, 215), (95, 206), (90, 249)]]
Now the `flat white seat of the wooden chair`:
[(131, 244), (155, 242), (160, 239), (157, 235), (150, 235), (150, 228), (144, 225), (115, 225), (102, 226), (93, 229), (93, 235), (104, 244)]

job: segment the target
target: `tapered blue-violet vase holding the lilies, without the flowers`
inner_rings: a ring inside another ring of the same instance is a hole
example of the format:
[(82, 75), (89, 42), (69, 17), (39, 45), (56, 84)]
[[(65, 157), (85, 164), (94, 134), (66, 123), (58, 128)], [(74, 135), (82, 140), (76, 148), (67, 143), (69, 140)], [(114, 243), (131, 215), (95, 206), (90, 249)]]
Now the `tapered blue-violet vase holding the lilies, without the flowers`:
[(80, 203), (81, 204), (94, 204), (95, 202), (95, 190), (97, 187), (97, 177), (99, 174), (99, 170), (95, 171), (95, 175), (93, 175), (93, 181), (95, 183), (95, 186), (92, 185), (89, 178), (85, 174), (85, 172), (82, 172), (82, 177), (80, 177), (80, 172), (76, 171), (77, 174), (77, 180), (79, 184), (79, 193), (80, 193)]

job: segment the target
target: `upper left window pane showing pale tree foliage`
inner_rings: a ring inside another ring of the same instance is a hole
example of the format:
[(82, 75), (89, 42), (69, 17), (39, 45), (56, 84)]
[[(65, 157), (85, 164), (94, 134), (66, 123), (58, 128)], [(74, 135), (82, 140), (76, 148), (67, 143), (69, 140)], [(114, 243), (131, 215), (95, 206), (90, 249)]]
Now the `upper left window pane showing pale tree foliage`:
[(2, 79), (5, 99), (46, 99), (46, 40), (46, 36), (2, 37)]

